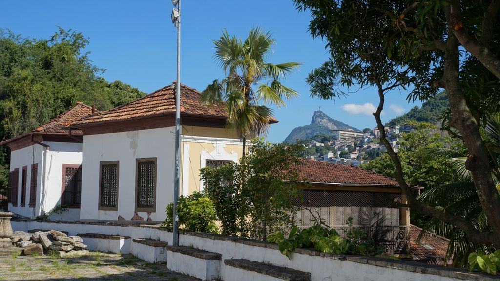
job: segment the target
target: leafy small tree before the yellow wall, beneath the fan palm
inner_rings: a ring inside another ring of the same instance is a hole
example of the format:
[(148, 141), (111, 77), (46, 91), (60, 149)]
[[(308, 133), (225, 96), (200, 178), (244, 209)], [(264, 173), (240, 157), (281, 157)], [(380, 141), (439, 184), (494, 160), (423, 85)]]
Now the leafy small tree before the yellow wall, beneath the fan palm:
[(265, 240), (268, 231), (290, 229), (304, 185), (296, 171), (303, 147), (253, 139), (239, 163), (200, 170), (223, 233)]

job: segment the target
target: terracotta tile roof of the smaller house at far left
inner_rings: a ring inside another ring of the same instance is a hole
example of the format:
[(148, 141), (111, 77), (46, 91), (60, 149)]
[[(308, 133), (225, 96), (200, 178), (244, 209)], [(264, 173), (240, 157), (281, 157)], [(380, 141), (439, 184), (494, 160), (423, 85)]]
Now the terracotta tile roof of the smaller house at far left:
[[(98, 111), (96, 111), (98, 112)], [(83, 117), (92, 114), (92, 107), (86, 105), (83, 102), (77, 102), (75, 106), (71, 107), (66, 112), (57, 115), (55, 118), (51, 119), (47, 123), (37, 127), (32, 130), (33, 132), (56, 132), (56, 133), (67, 133), (69, 131), (69, 125), (74, 121), (79, 120)], [(71, 131), (73, 134), (81, 134), (80, 130)]]

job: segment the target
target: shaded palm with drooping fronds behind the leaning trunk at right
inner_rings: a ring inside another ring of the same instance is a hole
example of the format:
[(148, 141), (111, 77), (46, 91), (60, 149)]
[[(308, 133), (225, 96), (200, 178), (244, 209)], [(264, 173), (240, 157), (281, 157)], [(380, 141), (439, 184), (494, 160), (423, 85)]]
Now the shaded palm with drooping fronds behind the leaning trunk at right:
[[(486, 116), (481, 126), (481, 135), (488, 143), (488, 152), (491, 165), (491, 175), (500, 193), (500, 113), (491, 113)], [(456, 135), (459, 137), (459, 135)], [(470, 171), (465, 168), (467, 149), (463, 142), (459, 142), (456, 149), (428, 148), (426, 157), (439, 159), (443, 165), (452, 167), (460, 176), (460, 182), (432, 186), (426, 188), (417, 198), (428, 205), (445, 209), (447, 212), (467, 218), (472, 225), (481, 232), (490, 231), (486, 216), (479, 203), (476, 189), (471, 180)], [(432, 217), (424, 226), (420, 237), (425, 232), (434, 232), (450, 239), (446, 252), (446, 259), (453, 257), (453, 265), (467, 266), (467, 256), (473, 251), (493, 252), (495, 248), (489, 244), (477, 244), (468, 240), (467, 235), (460, 228), (444, 223)]]

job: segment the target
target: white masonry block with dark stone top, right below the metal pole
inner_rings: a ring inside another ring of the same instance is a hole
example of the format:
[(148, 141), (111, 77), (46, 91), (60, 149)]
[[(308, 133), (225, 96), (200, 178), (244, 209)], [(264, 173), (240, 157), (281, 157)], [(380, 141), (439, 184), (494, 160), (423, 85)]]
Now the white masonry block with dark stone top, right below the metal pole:
[(222, 255), (185, 246), (166, 247), (166, 267), (201, 280), (220, 278)]

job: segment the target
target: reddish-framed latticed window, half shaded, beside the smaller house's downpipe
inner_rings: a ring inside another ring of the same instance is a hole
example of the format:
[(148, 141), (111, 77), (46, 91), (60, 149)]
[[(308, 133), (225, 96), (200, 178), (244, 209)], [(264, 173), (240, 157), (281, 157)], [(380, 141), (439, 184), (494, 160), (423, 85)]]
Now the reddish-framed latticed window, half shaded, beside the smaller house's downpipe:
[(81, 166), (62, 165), (63, 186), (61, 204), (77, 207), (81, 198)]

